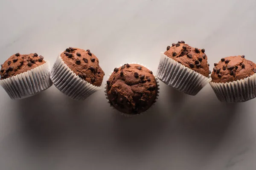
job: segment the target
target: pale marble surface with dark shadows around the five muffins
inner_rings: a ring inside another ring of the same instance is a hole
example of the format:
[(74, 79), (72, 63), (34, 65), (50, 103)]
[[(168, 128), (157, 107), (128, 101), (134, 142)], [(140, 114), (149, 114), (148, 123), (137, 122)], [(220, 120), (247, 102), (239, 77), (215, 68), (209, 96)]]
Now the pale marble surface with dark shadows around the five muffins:
[[(0, 62), (37, 52), (53, 65), (89, 48), (106, 74), (126, 62), (155, 73), (160, 51), (184, 40), (213, 63), (256, 62), (255, 0), (1, 0)], [(105, 76), (104, 81), (107, 77)], [(54, 86), (12, 101), (0, 88), (0, 170), (255, 170), (256, 99), (222, 104), (207, 85), (187, 96), (160, 82), (144, 116), (119, 116), (103, 89), (84, 102)]]

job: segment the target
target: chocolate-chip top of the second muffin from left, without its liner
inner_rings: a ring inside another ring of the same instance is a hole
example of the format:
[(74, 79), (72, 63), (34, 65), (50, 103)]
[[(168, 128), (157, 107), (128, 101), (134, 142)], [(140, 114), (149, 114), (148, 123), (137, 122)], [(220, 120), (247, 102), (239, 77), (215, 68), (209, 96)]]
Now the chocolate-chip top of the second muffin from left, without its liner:
[(96, 86), (102, 84), (105, 73), (99, 66), (99, 59), (90, 50), (70, 47), (61, 53), (61, 58), (81, 79)]

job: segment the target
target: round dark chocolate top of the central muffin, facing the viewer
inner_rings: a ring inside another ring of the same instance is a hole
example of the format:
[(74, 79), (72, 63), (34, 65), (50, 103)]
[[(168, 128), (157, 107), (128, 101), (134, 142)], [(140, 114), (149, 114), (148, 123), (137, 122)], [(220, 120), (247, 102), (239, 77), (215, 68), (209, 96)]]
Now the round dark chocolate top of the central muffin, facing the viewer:
[(110, 104), (118, 111), (139, 114), (146, 111), (157, 97), (157, 82), (148, 68), (125, 64), (115, 68), (107, 81)]

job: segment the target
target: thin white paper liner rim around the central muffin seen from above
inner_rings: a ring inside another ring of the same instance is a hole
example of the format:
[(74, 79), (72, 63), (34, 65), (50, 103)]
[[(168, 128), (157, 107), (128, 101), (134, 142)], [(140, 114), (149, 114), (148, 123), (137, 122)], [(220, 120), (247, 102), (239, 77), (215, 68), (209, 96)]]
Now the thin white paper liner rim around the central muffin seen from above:
[[(142, 65), (143, 67), (145, 67), (145, 68), (147, 68), (145, 65), (143, 65), (143, 64), (140, 64), (140, 63), (136, 63), (136, 62), (128, 62), (129, 64), (139, 64), (139, 65)], [(121, 64), (120, 65), (120, 67), (122, 66), (123, 64)], [(148, 68), (148, 70), (150, 70), (149, 68)], [(111, 71), (111, 74), (113, 73), (113, 71)], [(109, 79), (109, 77), (111, 76), (111, 74), (108, 74), (108, 79)], [(107, 79), (107, 81), (108, 81), (108, 79)], [(155, 77), (155, 79), (156, 79), (156, 82), (157, 82), (157, 97), (156, 97), (156, 102), (157, 102), (157, 99), (158, 99), (158, 96), (159, 96), (159, 90), (160, 90), (160, 88), (159, 88), (159, 84), (158, 84), (158, 81), (157, 81), (157, 77)], [(108, 99), (108, 93), (107, 93), (107, 83), (105, 84), (105, 96), (106, 96), (106, 99), (108, 100), (108, 104), (110, 105), (110, 101), (109, 101), (109, 99)], [(148, 108), (148, 110), (146, 110), (146, 111), (144, 111), (144, 112), (142, 112), (142, 113), (140, 113), (140, 114), (128, 114), (128, 113), (122, 113), (121, 111), (118, 111), (115, 107), (113, 107), (112, 105), (110, 105), (110, 107), (113, 109), (113, 111), (117, 111), (117, 113), (119, 113), (119, 114), (121, 114), (122, 116), (126, 116), (126, 117), (134, 117), (134, 116), (141, 116), (141, 115), (143, 115), (144, 113), (147, 113), (148, 111), (150, 111), (150, 109), (155, 105), (155, 103), (156, 102), (154, 102), (153, 103), (153, 105), (151, 105), (151, 107), (150, 108)]]

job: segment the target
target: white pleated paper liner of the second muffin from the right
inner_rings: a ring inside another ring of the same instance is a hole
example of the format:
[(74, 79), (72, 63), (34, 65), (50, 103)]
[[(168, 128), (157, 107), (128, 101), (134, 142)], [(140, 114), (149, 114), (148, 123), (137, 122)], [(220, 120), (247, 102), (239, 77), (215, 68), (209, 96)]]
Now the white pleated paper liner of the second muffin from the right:
[(212, 80), (210, 77), (204, 77), (163, 53), (161, 53), (156, 76), (166, 85), (192, 96), (198, 94)]

